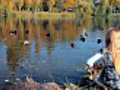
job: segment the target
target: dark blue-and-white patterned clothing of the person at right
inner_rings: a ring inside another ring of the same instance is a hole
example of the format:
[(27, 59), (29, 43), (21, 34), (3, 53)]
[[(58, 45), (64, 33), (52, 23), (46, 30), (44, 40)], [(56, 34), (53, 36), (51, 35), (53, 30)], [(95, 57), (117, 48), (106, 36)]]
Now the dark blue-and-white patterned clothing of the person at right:
[(109, 53), (105, 53), (105, 56), (107, 61), (98, 80), (112, 90), (120, 90), (120, 76), (115, 70), (112, 56)]

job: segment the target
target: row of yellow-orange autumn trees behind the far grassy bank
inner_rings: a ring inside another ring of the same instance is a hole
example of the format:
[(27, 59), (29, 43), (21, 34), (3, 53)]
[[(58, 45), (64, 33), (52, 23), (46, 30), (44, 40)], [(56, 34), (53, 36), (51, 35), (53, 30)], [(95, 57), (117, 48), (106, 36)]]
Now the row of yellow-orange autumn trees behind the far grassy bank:
[(13, 12), (18, 7), (19, 11), (21, 11), (21, 8), (25, 10), (30, 10), (30, 8), (37, 10), (39, 8), (52, 12), (54, 7), (59, 11), (63, 8), (66, 10), (74, 8), (76, 13), (88, 15), (92, 13), (95, 1), (100, 1), (103, 4), (103, 6), (95, 7), (96, 13), (99, 10), (105, 13), (109, 5), (120, 5), (120, 0), (0, 0), (0, 10)]

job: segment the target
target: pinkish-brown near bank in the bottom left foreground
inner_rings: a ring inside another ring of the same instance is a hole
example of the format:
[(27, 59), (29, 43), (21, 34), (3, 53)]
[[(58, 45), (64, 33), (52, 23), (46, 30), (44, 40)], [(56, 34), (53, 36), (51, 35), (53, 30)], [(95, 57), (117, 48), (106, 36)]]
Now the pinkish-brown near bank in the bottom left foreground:
[[(20, 80), (20, 78), (16, 78)], [(6, 80), (6, 83), (0, 84), (0, 90), (63, 90), (56, 83), (37, 83), (32, 78), (26, 77), (25, 82), (20, 83), (10, 83), (9, 80)]]

